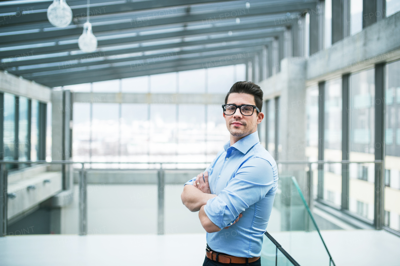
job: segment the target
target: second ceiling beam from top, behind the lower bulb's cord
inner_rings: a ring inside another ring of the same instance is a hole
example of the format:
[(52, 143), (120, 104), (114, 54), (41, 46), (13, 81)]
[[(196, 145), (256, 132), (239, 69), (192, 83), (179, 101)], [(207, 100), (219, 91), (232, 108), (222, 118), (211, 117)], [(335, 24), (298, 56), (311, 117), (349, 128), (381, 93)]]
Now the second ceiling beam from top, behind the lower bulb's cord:
[[(310, 10), (316, 7), (315, 2), (305, 2), (305, 3), (290, 3), (290, 4), (282, 4), (282, 3), (274, 3), (264, 7), (254, 7), (254, 8), (244, 8), (243, 10), (232, 10), (232, 12), (210, 12), (204, 14), (185, 14), (183, 16), (175, 16), (169, 18), (158, 18), (151, 20), (151, 26), (157, 25), (166, 25), (166, 24), (179, 24), (179, 23), (188, 23), (188, 22), (205, 22), (206, 24), (212, 24), (226, 18), (234, 18), (234, 17), (248, 17), (248, 16), (259, 16), (259, 15), (267, 15), (267, 14), (278, 14), (283, 12), (298, 12), (303, 10)], [(235, 12), (233, 16), (232, 13)], [(228, 14), (228, 15), (226, 15)], [(142, 20), (140, 22), (135, 19), (131, 19), (130, 22), (122, 22), (115, 23), (110, 22), (110, 24), (94, 24), (93, 32), (108, 32), (112, 30), (123, 30), (123, 29), (133, 29), (133, 28), (141, 28), (144, 26), (148, 26), (148, 23), (143, 23)], [(3, 32), (0, 30), (0, 32)], [(48, 38), (58, 38), (65, 36), (79, 36), (82, 34), (81, 26), (76, 26), (74, 28), (55, 28), (54, 30), (39, 32), (29, 32), (24, 34), (12, 34), (8, 35), (6, 38), (0, 39), (1, 44), (12, 44), (14, 42), (21, 42), (24, 40), (46, 40)]]

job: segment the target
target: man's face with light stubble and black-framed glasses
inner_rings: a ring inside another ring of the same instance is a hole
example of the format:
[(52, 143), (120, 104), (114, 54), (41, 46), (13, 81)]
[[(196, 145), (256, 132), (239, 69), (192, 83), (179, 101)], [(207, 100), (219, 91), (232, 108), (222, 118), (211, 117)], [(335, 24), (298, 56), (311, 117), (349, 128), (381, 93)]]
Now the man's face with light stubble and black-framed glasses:
[[(254, 96), (247, 93), (230, 93), (226, 104), (235, 105), (256, 105)], [(233, 115), (225, 115), (226, 128), (232, 136), (244, 137), (256, 131), (256, 125), (258, 125), (264, 118), (263, 113), (257, 113), (254, 110), (250, 116), (242, 115), (239, 108), (236, 109)]]

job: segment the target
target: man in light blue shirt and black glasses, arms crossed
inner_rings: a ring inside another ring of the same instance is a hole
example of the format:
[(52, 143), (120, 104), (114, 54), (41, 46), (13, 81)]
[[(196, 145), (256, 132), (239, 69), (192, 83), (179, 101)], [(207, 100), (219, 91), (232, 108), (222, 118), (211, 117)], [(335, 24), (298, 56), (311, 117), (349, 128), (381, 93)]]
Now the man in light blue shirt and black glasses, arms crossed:
[(278, 169), (262, 147), (262, 90), (236, 82), (222, 105), (230, 141), (211, 165), (184, 185), (181, 198), (199, 211), (207, 232), (204, 265), (261, 265), (261, 247), (278, 185)]

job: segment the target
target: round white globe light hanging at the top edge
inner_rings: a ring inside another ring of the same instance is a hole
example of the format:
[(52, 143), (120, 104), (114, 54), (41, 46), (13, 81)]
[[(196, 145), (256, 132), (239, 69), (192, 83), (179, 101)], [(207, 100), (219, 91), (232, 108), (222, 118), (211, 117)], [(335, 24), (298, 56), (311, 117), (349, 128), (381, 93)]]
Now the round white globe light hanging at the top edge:
[(72, 10), (65, 0), (54, 0), (47, 9), (47, 19), (58, 28), (65, 28), (72, 21)]

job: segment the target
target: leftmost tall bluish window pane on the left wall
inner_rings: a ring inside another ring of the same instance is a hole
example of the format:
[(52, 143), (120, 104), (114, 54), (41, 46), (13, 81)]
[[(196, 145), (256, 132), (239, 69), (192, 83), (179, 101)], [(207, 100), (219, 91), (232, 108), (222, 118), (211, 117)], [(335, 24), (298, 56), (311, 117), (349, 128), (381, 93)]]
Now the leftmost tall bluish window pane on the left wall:
[[(4, 93), (4, 160), (14, 160), (15, 96)], [(7, 168), (11, 168), (7, 165)]]

